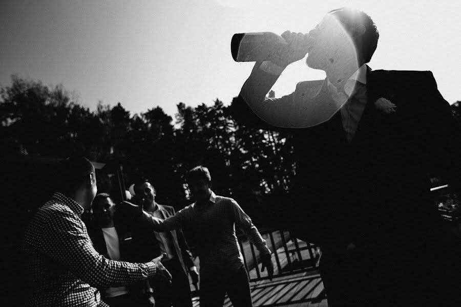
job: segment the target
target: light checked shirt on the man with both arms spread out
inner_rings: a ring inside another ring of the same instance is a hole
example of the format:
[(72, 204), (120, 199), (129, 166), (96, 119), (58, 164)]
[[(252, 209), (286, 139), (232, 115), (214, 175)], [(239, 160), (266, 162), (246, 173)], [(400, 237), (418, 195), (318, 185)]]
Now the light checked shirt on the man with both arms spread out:
[(188, 227), (194, 231), (200, 258), (200, 273), (215, 269), (238, 270), (243, 267), (235, 226), (248, 235), (261, 254), (270, 254), (251, 218), (231, 198), (211, 193), (204, 205), (194, 203), (174, 216), (160, 220), (152, 217), (154, 229), (168, 231)]

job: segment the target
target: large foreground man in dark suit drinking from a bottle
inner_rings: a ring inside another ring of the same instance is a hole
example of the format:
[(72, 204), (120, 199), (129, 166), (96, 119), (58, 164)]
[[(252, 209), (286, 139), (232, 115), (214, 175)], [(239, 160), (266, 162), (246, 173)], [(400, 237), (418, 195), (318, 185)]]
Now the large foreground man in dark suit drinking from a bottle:
[[(379, 33), (358, 10), (333, 10), (308, 35), (282, 37), (286, 50), (255, 64), (231, 112), (239, 124), (292, 136), (293, 205), (280, 226), (320, 245), (328, 305), (456, 303), (456, 255), (428, 173), (459, 191), (460, 140), (432, 73), (372, 71)], [(326, 79), (265, 98), (307, 52)]]

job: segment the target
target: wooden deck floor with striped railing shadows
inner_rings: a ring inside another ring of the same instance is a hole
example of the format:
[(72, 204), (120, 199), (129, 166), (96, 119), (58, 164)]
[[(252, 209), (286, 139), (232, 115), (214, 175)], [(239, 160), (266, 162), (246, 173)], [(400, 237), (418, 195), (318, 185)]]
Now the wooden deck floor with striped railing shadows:
[[(280, 239), (280, 236), (279, 236)], [(248, 275), (250, 277), (250, 288), (252, 291), (252, 300), (253, 305), (256, 306), (266, 306), (266, 307), (276, 307), (276, 306), (316, 306), (316, 307), (327, 307), (327, 300), (324, 293), (322, 279), (317, 269), (297, 270), (293, 273), (290, 273), (290, 268), (296, 267), (301, 261), (299, 261), (298, 253), (288, 253), (289, 258), (286, 256), (286, 250), (284, 246), (280, 246), (278, 242), (280, 240), (276, 238), (276, 247), (277, 254), (279, 255), (278, 265), (273, 257), (274, 262), (274, 273), (276, 275), (272, 280), (269, 279), (258, 279), (257, 268), (249, 267)], [(270, 240), (266, 238), (269, 243)], [(299, 247), (306, 246), (306, 243), (298, 240), (297, 244)], [(269, 247), (270, 247), (269, 243)], [(242, 244), (243, 252), (245, 255), (250, 255), (252, 251), (247, 242)], [(293, 241), (287, 242), (287, 249), (295, 249), (295, 243)], [(312, 261), (310, 259), (310, 253), (307, 250), (301, 251), (301, 257), (304, 261)], [(247, 257), (247, 259), (249, 259)], [(314, 259), (315, 260), (315, 259)], [(260, 268), (260, 266), (259, 266)], [(279, 270), (281, 269), (281, 271)], [(277, 274), (282, 274), (277, 276)], [(266, 276), (266, 272), (261, 273), (262, 277)], [(258, 280), (255, 280), (258, 279)], [(193, 306), (199, 307), (200, 302), (198, 297), (193, 298)], [(226, 296), (224, 300), (224, 307), (232, 306), (231, 301)]]

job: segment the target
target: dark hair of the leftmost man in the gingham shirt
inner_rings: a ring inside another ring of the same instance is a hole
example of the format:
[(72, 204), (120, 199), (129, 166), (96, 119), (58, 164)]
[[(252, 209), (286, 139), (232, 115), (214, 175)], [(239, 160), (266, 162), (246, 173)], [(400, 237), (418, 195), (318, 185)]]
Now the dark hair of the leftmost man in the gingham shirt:
[(57, 169), (57, 189), (61, 192), (73, 192), (88, 180), (94, 172), (94, 166), (85, 157), (72, 156), (59, 162)]

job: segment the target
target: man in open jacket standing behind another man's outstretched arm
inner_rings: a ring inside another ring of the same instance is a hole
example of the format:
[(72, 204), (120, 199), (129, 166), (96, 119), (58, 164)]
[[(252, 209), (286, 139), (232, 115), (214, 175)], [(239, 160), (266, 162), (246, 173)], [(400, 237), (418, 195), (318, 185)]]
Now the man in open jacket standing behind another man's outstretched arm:
[[(160, 205), (155, 202), (155, 188), (146, 180), (140, 180), (134, 186), (134, 202), (142, 206), (145, 212), (162, 220), (175, 215), (171, 206)], [(198, 272), (192, 254), (189, 251), (181, 229), (169, 232), (142, 231), (144, 238), (144, 258), (166, 253), (162, 264), (168, 268), (173, 276), (171, 286), (153, 280), (156, 306), (190, 306), (192, 307), (191, 288), (188, 274), (194, 284), (198, 283)], [(152, 258), (151, 258), (152, 259)]]

